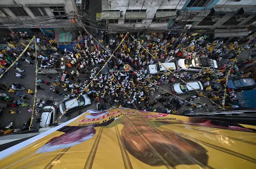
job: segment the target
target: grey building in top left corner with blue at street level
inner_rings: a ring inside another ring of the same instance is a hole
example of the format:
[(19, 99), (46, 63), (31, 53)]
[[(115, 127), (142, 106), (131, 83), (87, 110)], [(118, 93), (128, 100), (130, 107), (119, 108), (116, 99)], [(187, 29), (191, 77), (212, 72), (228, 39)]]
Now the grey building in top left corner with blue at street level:
[(0, 34), (9, 31), (54, 36), (56, 42), (71, 42), (76, 25), (70, 12), (79, 9), (82, 0), (0, 0)]

